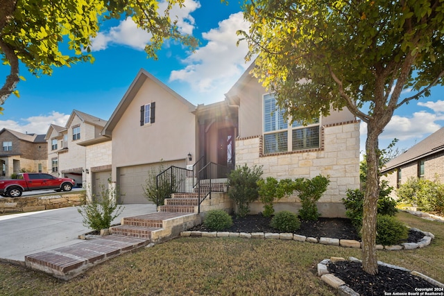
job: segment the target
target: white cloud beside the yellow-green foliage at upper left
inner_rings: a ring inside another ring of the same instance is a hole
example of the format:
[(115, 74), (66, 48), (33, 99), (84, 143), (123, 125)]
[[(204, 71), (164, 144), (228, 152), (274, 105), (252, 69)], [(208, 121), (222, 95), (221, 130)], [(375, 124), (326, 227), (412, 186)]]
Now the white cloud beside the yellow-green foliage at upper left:
[[(194, 0), (186, 0), (184, 6), (173, 6), (169, 15), (171, 19), (177, 21), (178, 30), (181, 33), (192, 34), (194, 30), (194, 18), (190, 13), (200, 7), (200, 3)], [(159, 11), (164, 11), (167, 3), (160, 3)], [(92, 40), (92, 51), (102, 51), (107, 49), (110, 44), (119, 44), (130, 46), (133, 49), (143, 51), (146, 44), (150, 42), (151, 33), (147, 33), (142, 28), (137, 28), (137, 24), (128, 17), (121, 21), (119, 26), (110, 28), (108, 31), (99, 32)]]

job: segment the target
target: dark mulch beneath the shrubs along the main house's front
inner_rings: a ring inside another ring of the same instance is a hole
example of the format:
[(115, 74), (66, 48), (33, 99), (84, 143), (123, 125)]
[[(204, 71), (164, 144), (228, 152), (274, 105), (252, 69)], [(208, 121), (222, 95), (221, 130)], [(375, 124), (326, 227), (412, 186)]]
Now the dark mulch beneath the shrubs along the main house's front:
[[(271, 218), (264, 217), (261, 214), (247, 215), (246, 217), (235, 218), (232, 217), (233, 225), (226, 232), (280, 232), (270, 226)], [(205, 225), (200, 224), (189, 230), (210, 232)], [(352, 239), (361, 241), (355, 227), (347, 218), (319, 218), (317, 221), (301, 221), (300, 229), (293, 232), (293, 234), (300, 234), (302, 236), (311, 236), (316, 238), (329, 237), (339, 239)], [(407, 243), (416, 243), (424, 234), (420, 232), (409, 232)]]

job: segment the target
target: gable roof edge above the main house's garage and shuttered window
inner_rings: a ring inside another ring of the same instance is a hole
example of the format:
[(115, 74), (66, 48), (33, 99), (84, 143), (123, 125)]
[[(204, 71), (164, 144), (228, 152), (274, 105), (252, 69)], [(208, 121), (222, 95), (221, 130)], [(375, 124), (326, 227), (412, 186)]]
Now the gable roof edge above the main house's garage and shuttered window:
[(162, 87), (166, 92), (171, 94), (173, 98), (176, 98), (180, 103), (185, 105), (185, 107), (188, 108), (189, 112), (192, 112), (196, 110), (196, 106), (189, 103), (189, 101), (185, 100), (180, 94), (173, 91), (173, 89), (169, 88), (167, 85), (165, 85), (162, 81), (155, 78), (151, 73), (146, 71), (145, 69), (140, 69), (139, 73), (137, 73), (137, 76), (134, 78), (133, 82), (131, 82), (130, 87), (126, 91), (126, 93), (123, 95), (123, 98), (119, 102), (119, 105), (117, 105), (114, 112), (112, 112), (112, 115), (110, 117), (110, 120), (108, 123), (106, 123), (105, 127), (103, 128), (101, 135), (105, 137), (111, 137), (112, 130), (115, 128), (117, 123), (119, 122), (121, 116), (126, 111), (130, 103), (133, 101), (135, 96), (137, 95), (137, 92), (139, 92), (140, 87), (144, 85), (144, 82), (149, 79), (155, 82), (157, 85)]

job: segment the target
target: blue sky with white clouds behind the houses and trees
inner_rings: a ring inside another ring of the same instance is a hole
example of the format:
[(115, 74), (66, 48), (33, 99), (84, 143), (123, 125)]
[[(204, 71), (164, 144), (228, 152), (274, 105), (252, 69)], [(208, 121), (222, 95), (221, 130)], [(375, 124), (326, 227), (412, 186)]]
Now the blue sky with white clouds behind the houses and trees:
[[(237, 30), (248, 30), (239, 1), (227, 6), (219, 0), (187, 0), (175, 10), (180, 29), (200, 39), (196, 53), (167, 42), (159, 60), (146, 58), (149, 36), (130, 20), (107, 21), (93, 43), (94, 64), (79, 63), (55, 69), (52, 76), (35, 78), (21, 67), (20, 98), (12, 95), (3, 105), (0, 128), (45, 134), (50, 123), (64, 126), (72, 110), (108, 120), (139, 69), (144, 68), (194, 105), (222, 101), (246, 70), (246, 44), (236, 46)], [(0, 66), (0, 80), (9, 67)], [(406, 94), (408, 95), (408, 94)], [(432, 96), (402, 106), (379, 138), (385, 148), (395, 137), (398, 148), (413, 146), (444, 125), (444, 87)], [(366, 126), (361, 124), (361, 150)]]

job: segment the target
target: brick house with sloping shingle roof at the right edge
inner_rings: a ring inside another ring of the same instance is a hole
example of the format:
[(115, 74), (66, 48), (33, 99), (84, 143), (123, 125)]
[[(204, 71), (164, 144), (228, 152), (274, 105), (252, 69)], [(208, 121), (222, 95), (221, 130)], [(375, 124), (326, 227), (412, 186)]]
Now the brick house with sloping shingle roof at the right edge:
[(381, 173), (384, 175), (381, 180), (388, 180), (394, 188), (410, 177), (444, 182), (443, 168), (444, 128), (441, 128), (388, 162), (382, 168)]

